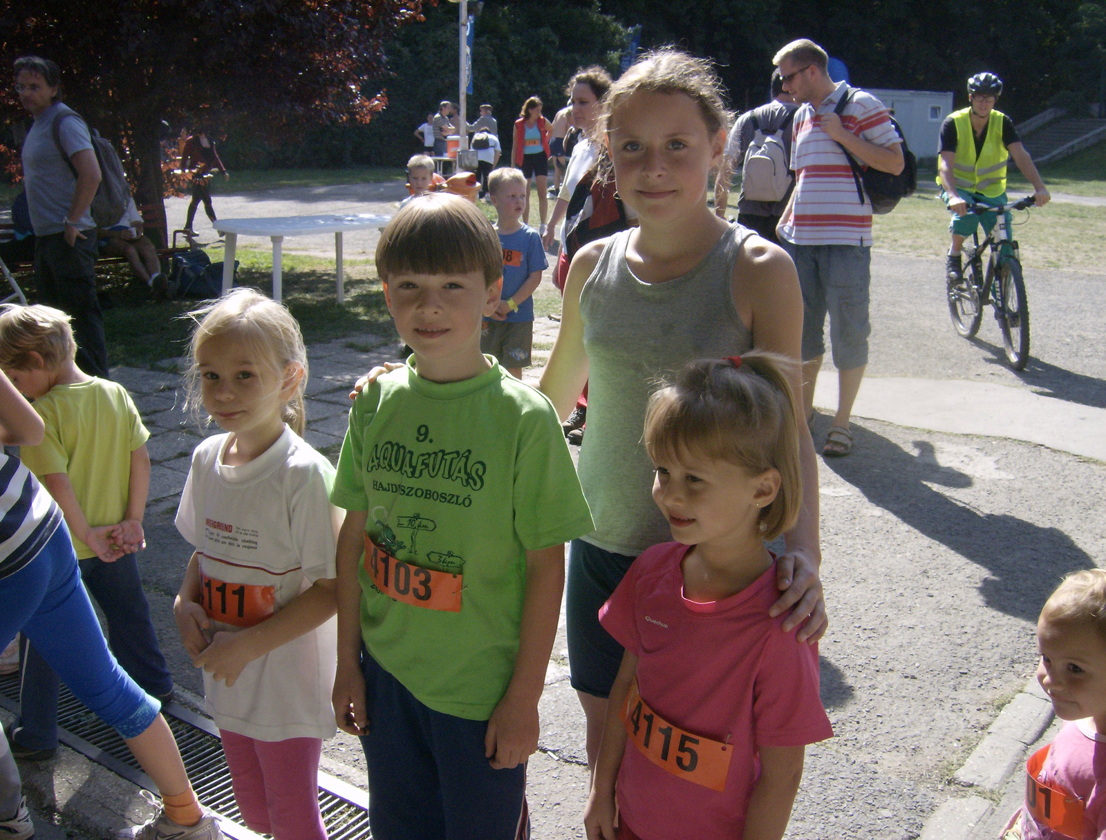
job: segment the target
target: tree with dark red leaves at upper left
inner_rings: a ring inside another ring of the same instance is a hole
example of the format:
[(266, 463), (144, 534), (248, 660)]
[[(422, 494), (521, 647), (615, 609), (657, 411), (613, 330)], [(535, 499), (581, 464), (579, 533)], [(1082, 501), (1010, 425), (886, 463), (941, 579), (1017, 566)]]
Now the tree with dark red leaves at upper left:
[[(69, 0), (17, 1), (0, 10), (0, 62), (56, 61), (65, 103), (116, 145), (138, 203), (153, 203), (165, 190), (161, 120), (270, 134), (367, 123), (386, 104), (365, 90), (385, 78), (383, 44), (436, 3), (117, 0), (85, 14)], [(11, 86), (0, 91), (0, 119), (25, 119)]]

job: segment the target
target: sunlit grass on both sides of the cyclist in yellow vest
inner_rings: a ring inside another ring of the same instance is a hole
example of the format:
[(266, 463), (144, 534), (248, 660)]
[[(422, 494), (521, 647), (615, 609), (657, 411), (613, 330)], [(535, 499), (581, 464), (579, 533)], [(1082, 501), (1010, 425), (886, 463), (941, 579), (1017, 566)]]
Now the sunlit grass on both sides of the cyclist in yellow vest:
[[(886, 216), (876, 216), (873, 237), (877, 251), (941, 258), (949, 248), (949, 213), (935, 193), (902, 199)], [(1014, 213), (1013, 237), (1022, 263), (1030, 269), (1066, 269), (1106, 273), (1106, 208), (1053, 202), (1041, 210)]]

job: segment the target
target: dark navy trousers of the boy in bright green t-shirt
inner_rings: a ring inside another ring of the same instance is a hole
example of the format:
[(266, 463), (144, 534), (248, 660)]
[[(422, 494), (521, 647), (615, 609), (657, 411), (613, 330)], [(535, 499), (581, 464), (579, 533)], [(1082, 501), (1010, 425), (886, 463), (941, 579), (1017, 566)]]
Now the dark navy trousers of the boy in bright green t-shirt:
[(362, 670), (374, 840), (529, 838), (526, 767), (492, 769), (488, 722), (435, 712), (364, 650)]

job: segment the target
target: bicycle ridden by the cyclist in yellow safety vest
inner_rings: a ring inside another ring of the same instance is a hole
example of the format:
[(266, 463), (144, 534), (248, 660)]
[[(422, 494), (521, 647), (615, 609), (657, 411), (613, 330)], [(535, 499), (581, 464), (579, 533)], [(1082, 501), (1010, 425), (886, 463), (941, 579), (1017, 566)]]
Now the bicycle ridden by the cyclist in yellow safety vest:
[[(952, 326), (964, 338), (972, 338), (983, 319), (983, 307), (994, 307), (994, 318), (1002, 333), (1002, 346), (1006, 360), (1014, 370), (1021, 370), (1030, 360), (1030, 304), (1022, 279), (1022, 263), (1018, 242), (1010, 237), (1006, 213), (1025, 210), (1035, 203), (1033, 196), (1012, 204), (970, 204), (968, 212), (974, 216), (995, 213), (994, 227), (982, 244), (979, 230), (972, 234), (973, 246), (964, 248), (964, 270), (957, 280), (947, 277), (949, 315)], [(982, 254), (991, 251), (983, 272)], [(999, 282), (995, 282), (998, 279)]]

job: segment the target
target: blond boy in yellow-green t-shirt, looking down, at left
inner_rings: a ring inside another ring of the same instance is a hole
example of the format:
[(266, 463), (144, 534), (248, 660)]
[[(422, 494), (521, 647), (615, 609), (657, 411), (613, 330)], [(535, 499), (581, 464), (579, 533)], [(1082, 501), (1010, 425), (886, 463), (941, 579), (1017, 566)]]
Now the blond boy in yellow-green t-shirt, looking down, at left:
[[(112, 652), (146, 692), (173, 699), (169, 674), (149, 618), (135, 553), (146, 547), (149, 432), (126, 389), (76, 366), (70, 316), (50, 306), (0, 307), (0, 368), (34, 400), (45, 424), (20, 460), (65, 515), (81, 579), (107, 618)], [(58, 747), (58, 678), (29, 649), (23, 660), (21, 717), (12, 727), (17, 757), (44, 758)]]

